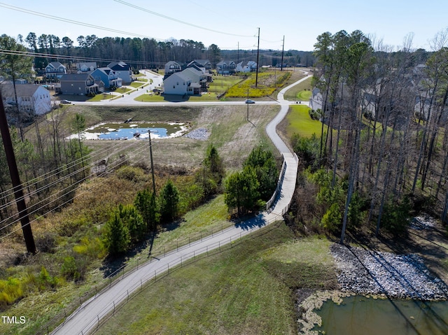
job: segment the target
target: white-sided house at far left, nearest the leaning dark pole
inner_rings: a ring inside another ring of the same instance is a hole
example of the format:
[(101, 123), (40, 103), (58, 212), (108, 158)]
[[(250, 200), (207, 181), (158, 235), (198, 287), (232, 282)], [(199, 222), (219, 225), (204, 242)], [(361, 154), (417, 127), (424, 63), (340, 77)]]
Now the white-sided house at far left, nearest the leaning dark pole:
[(15, 100), (14, 85), (1, 84), (0, 90), (5, 107), (18, 106), (20, 111), (33, 112), (35, 115), (43, 115), (51, 111), (50, 92), (41, 85), (15, 85), (17, 101)]

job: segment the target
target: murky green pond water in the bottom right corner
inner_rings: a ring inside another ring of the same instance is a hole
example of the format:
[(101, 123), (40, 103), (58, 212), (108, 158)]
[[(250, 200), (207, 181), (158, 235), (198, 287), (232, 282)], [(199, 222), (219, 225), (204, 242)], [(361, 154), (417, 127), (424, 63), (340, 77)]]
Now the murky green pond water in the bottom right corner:
[(325, 301), (315, 311), (326, 335), (446, 335), (448, 301), (414, 301), (346, 297), (337, 305)]

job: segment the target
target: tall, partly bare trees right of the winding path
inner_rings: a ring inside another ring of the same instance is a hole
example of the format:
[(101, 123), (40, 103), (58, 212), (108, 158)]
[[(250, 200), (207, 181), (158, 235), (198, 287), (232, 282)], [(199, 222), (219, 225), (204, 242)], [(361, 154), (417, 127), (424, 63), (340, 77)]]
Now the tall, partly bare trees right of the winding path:
[(306, 210), (297, 199), (310, 214), (299, 220), (342, 232), (341, 241), (349, 225), (373, 224), (376, 234), (382, 228), (404, 233), (412, 209), (432, 211), (446, 222), (444, 36), (435, 38), (431, 53), (410, 45), (391, 52), (362, 31), (318, 36), (314, 85), (323, 99), (316, 111), (323, 120), (321, 134), (293, 139), (311, 173), (302, 176), (301, 186), (316, 194), (317, 203), (309, 205), (317, 207)]

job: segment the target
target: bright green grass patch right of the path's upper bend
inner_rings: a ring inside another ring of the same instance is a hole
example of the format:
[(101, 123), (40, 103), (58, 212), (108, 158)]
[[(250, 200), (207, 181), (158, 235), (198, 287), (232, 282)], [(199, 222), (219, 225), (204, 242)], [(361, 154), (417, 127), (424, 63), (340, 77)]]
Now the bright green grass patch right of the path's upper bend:
[[(316, 120), (311, 120), (308, 111), (308, 106), (291, 106), (290, 112), (286, 115), (286, 120), (288, 121), (286, 134), (288, 138), (295, 133), (304, 137), (311, 137), (312, 134), (320, 136), (322, 123)], [(327, 126), (324, 126), (323, 130), (327, 131)]]

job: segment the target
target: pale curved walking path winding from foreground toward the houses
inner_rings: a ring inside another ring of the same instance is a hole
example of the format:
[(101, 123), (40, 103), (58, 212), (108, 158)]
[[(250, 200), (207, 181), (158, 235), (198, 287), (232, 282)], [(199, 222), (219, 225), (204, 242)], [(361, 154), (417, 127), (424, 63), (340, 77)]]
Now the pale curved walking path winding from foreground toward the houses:
[(128, 299), (130, 294), (138, 290), (146, 281), (154, 276), (161, 274), (173, 266), (182, 264), (186, 259), (190, 259), (202, 253), (221, 248), (221, 245), (232, 243), (237, 238), (251, 234), (252, 231), (265, 227), (267, 224), (282, 220), (282, 214), (288, 210), (290, 201), (293, 197), (295, 189), (295, 180), (297, 177), (297, 156), (290, 152), (288, 146), (281, 140), (276, 133), (276, 125), (283, 120), (286, 113), (288, 113), (290, 101), (283, 99), (283, 94), (290, 87), (301, 83), (309, 76), (290, 85), (278, 95), (279, 104), (281, 106), (280, 112), (274, 120), (272, 120), (266, 127), (267, 134), (271, 138), (276, 148), (283, 155), (286, 162), (286, 170), (281, 183), (281, 189), (277, 195), (274, 208), (269, 213), (263, 212), (251, 220), (247, 220), (240, 224), (224, 229), (223, 231), (202, 238), (200, 241), (195, 241), (189, 245), (185, 245), (178, 250), (167, 253), (160, 259), (151, 260), (145, 264), (137, 267), (134, 271), (130, 271), (123, 278), (116, 280), (106, 289), (98, 294), (95, 294), (90, 300), (85, 301), (73, 314), (66, 318), (62, 325), (59, 325), (52, 334), (57, 335), (85, 335), (96, 329), (99, 322), (104, 316), (115, 310), (120, 302)]

